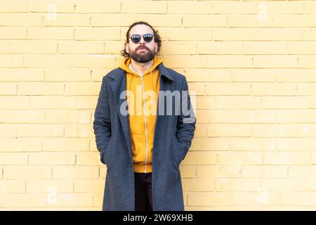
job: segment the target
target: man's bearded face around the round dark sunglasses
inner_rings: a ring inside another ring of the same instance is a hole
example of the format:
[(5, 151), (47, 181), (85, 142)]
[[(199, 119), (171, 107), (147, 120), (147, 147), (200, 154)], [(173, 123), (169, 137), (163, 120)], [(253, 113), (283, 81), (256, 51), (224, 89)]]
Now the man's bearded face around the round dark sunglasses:
[[(129, 37), (133, 34), (153, 34), (152, 29), (147, 25), (136, 25), (132, 27), (129, 31)], [(129, 39), (129, 43), (125, 45), (126, 52), (129, 53), (129, 56), (139, 63), (147, 63), (148, 61), (154, 58), (155, 53), (157, 53), (158, 44), (154, 42), (154, 38), (150, 42), (146, 42), (141, 36), (138, 43), (133, 43)]]

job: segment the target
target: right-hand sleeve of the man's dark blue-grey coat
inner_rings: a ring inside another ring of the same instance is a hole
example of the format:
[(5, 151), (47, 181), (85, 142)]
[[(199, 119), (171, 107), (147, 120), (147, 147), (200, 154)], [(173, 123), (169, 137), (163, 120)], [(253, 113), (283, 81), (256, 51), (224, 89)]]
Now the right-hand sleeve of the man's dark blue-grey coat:
[[(178, 115), (176, 138), (181, 152), (181, 160), (187, 155), (193, 136), (197, 119), (190, 100), (187, 79), (184, 77), (181, 90), (180, 115)], [(183, 105), (184, 104), (184, 105)]]

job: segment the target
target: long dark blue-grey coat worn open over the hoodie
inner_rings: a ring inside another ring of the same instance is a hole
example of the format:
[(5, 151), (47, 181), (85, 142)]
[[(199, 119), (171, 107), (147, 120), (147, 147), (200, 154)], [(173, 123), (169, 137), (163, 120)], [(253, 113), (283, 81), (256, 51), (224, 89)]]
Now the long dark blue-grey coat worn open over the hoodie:
[[(154, 146), (152, 149), (152, 203), (154, 211), (183, 211), (183, 188), (179, 165), (185, 158), (195, 133), (196, 117), (190, 102), (190, 95), (181, 100), (187, 103), (190, 115), (180, 106), (175, 113), (175, 98), (172, 98), (172, 115), (167, 114), (166, 97), (162, 91), (188, 91), (184, 75), (159, 66), (159, 99)], [(129, 131), (129, 115), (121, 113), (121, 105), (126, 105), (126, 98), (121, 93), (126, 91), (126, 73), (121, 68), (110, 71), (103, 77), (93, 129), (96, 146), (100, 151), (100, 160), (107, 165), (103, 210), (135, 210), (134, 169)], [(181, 92), (182, 93), (182, 92)], [(162, 94), (162, 95), (161, 95)], [(162, 99), (165, 101), (162, 101)], [(159, 108), (164, 107), (164, 114)], [(160, 111), (161, 112), (161, 111)]]

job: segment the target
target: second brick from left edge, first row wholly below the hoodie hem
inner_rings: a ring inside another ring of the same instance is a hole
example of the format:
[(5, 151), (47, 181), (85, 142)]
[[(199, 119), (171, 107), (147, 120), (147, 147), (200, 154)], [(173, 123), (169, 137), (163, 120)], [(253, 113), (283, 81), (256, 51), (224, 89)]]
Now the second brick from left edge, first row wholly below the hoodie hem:
[(33, 179), (26, 181), (27, 193), (69, 193), (74, 190), (72, 180), (58, 179)]

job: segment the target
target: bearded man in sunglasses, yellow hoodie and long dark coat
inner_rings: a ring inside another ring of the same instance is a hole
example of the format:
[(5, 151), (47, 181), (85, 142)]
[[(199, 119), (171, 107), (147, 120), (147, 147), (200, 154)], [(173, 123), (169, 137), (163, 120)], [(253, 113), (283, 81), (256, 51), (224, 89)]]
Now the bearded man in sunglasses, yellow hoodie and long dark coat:
[(103, 210), (184, 210), (179, 165), (196, 118), (185, 76), (155, 56), (161, 44), (151, 25), (133, 23), (126, 59), (103, 77), (93, 121), (107, 165)]

